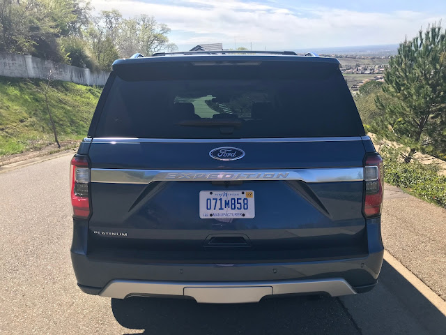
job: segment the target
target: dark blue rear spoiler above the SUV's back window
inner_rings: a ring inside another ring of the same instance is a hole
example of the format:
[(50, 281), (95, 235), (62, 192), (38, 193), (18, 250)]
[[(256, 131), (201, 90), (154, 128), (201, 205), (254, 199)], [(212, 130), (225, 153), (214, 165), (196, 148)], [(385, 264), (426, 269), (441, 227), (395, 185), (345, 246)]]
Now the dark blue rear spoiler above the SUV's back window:
[[(206, 66), (204, 66), (206, 65)], [(135, 57), (113, 64), (126, 81), (190, 79), (305, 79), (341, 75), (334, 58), (288, 55), (190, 55)]]

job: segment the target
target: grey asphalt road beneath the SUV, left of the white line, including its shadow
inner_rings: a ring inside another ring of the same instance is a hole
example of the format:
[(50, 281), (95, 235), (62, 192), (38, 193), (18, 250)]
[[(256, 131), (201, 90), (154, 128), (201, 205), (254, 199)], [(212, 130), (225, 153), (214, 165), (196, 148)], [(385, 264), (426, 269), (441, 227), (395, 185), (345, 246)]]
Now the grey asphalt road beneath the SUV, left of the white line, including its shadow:
[(341, 299), (93, 297), (70, 262), (71, 156), (0, 174), (1, 334), (445, 334), (446, 317), (385, 262), (378, 286)]

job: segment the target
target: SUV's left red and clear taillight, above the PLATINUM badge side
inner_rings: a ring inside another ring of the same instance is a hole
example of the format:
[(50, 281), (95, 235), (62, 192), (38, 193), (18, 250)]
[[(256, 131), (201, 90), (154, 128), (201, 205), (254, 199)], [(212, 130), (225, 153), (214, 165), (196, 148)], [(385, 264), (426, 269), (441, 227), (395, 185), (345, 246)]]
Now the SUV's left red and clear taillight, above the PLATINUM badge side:
[(88, 218), (90, 215), (90, 168), (86, 156), (75, 155), (70, 166), (71, 204), (73, 216)]

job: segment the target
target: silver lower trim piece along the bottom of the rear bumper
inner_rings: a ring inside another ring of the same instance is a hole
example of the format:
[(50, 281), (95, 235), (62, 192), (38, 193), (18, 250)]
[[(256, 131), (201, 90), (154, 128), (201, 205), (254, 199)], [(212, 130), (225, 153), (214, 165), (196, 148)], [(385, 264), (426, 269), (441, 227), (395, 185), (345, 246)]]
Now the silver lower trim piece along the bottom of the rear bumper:
[(99, 295), (117, 299), (144, 295), (187, 295), (202, 303), (235, 304), (258, 302), (266, 295), (312, 292), (327, 292), (332, 297), (356, 294), (345, 279), (330, 278), (309, 281), (221, 283), (115, 280), (109, 282)]

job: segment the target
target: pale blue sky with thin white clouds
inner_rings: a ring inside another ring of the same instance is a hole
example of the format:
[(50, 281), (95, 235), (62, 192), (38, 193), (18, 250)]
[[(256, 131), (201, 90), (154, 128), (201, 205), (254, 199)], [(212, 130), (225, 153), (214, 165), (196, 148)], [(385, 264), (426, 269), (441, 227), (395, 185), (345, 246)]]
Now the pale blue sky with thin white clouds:
[(445, 0), (92, 0), (96, 12), (152, 15), (180, 51), (201, 43), (252, 50), (397, 44), (443, 20)]

